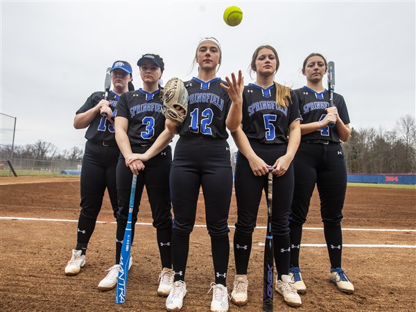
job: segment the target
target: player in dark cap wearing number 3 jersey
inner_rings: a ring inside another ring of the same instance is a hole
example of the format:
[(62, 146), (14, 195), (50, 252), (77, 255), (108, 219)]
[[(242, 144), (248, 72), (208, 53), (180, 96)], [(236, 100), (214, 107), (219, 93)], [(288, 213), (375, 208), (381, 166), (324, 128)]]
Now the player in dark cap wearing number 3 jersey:
[[(159, 79), (164, 62), (159, 55), (143, 55), (137, 65), (143, 89), (123, 94), (116, 105), (116, 141), (121, 154), (116, 169), (119, 211), (117, 212), (116, 264), (98, 284), (98, 289), (108, 291), (117, 284), (121, 247), (127, 225), (132, 175), (137, 175), (135, 206), (132, 215), (132, 241), (135, 223), (144, 187), (152, 210), (153, 226), (156, 228), (157, 245), (162, 261), (162, 272), (157, 294), (166, 296), (173, 284), (171, 259), (172, 216), (169, 193), (169, 172), (172, 150), (168, 143), (173, 138), (165, 130), (163, 103), (160, 100)], [(131, 257), (130, 257), (131, 259)], [(131, 266), (131, 262), (130, 262)]]

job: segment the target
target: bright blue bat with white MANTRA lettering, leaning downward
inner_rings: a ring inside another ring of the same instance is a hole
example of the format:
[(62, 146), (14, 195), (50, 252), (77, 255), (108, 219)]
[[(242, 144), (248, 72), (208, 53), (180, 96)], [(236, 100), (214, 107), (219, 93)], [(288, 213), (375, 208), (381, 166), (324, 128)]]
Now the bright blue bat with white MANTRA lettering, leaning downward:
[(125, 301), (125, 291), (127, 289), (128, 264), (130, 263), (130, 246), (132, 243), (132, 215), (133, 205), (135, 205), (137, 175), (133, 175), (132, 191), (130, 192), (130, 204), (128, 207), (128, 219), (125, 226), (123, 246), (121, 247), (119, 279), (116, 287), (116, 304), (123, 304)]

